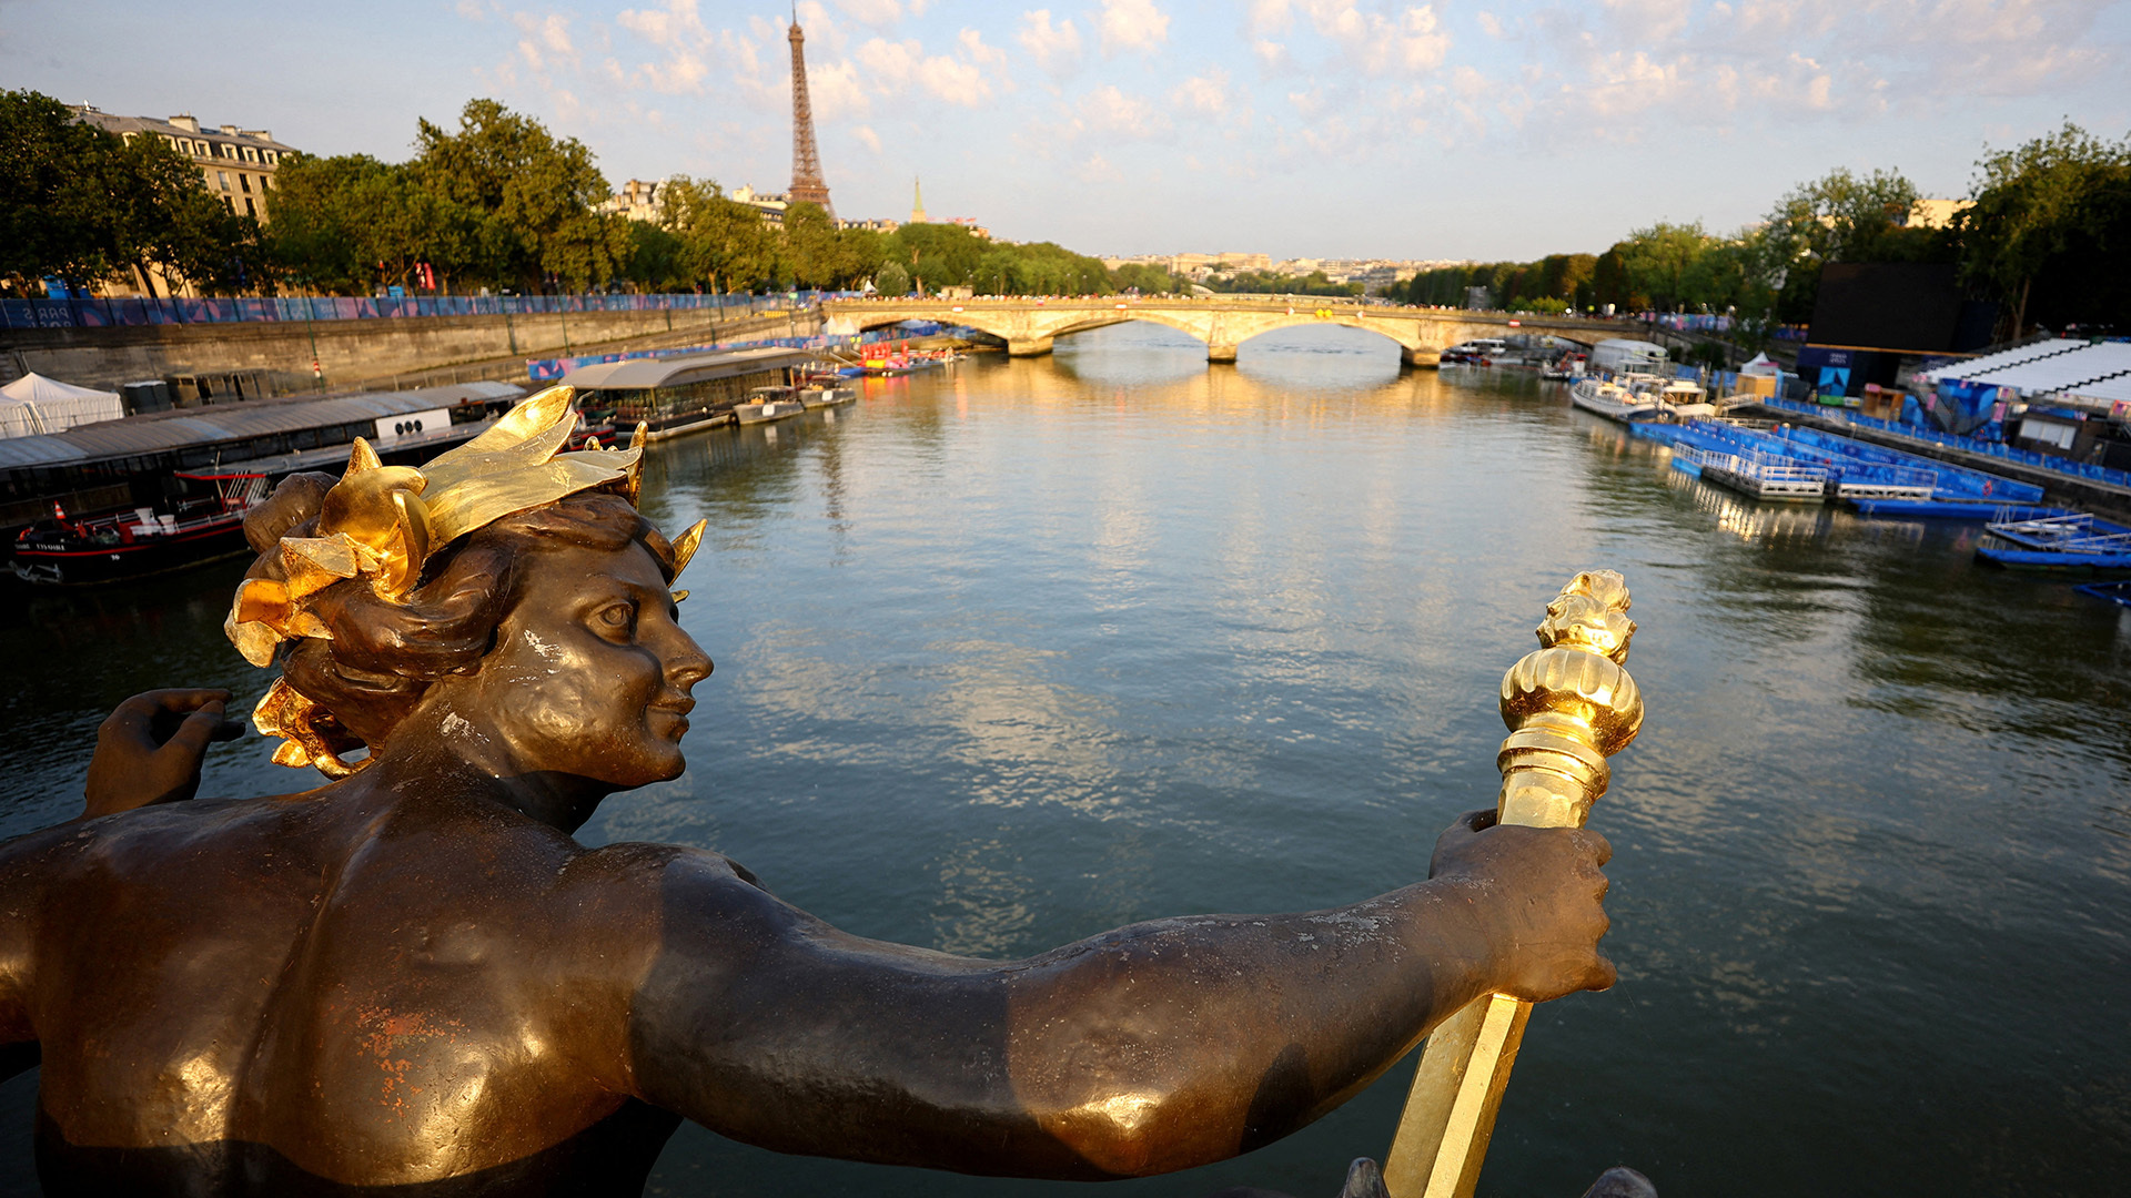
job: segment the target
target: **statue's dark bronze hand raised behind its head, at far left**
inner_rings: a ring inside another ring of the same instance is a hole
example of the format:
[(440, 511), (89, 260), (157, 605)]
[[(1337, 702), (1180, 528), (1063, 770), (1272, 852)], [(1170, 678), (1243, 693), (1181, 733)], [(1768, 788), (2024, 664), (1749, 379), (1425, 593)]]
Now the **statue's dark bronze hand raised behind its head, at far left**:
[(119, 703), (96, 729), (83, 819), (190, 799), (200, 789), (207, 746), (245, 731), (222, 716), (228, 701), (228, 691), (198, 689), (149, 691)]

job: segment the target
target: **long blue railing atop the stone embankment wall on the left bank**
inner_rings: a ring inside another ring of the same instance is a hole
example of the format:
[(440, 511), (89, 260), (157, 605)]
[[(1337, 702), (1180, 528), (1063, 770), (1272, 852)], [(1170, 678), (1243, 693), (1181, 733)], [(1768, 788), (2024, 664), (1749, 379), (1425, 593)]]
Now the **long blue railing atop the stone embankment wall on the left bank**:
[(422, 315), (552, 315), (580, 311), (703, 311), (752, 315), (812, 307), (840, 292), (584, 294), (584, 296), (273, 296), (273, 298), (0, 298), (0, 328), (130, 328), (147, 324), (273, 324)]

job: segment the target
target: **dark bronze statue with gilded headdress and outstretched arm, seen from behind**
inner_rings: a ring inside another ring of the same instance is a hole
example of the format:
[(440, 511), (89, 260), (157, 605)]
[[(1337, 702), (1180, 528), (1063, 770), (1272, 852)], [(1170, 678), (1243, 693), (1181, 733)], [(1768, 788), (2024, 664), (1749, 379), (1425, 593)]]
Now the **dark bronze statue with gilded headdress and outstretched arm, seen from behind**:
[(580, 846), (682, 772), (712, 663), (671, 590), (701, 527), (669, 544), (635, 450), (558, 454), (567, 420), (558, 388), (422, 471), (358, 446), (254, 514), (230, 633), (281, 661), (277, 761), (328, 784), (190, 797), (222, 695), (164, 693), (107, 725), (83, 819), (0, 846), (47, 1192), (639, 1194), (680, 1119), (1151, 1175), (1302, 1128), (1483, 993), (1611, 985), (1605, 840), (1494, 812), (1385, 895), (1021, 961), (848, 936), (716, 853)]

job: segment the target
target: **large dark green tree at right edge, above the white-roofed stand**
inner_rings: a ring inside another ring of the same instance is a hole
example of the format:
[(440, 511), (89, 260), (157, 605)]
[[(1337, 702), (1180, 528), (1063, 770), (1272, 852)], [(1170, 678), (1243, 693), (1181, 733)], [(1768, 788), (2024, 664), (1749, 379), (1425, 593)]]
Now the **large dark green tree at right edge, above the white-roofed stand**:
[(2131, 326), (2131, 136), (2065, 122), (1975, 166), (1961, 275), (2010, 305), (2014, 335), (2031, 315)]

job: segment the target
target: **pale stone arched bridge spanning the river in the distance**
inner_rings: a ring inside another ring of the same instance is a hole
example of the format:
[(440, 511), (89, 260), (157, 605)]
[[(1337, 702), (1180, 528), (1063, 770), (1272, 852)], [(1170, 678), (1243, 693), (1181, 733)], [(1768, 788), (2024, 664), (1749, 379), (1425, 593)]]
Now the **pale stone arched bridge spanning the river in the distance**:
[(1234, 362), (1236, 347), (1274, 328), (1298, 324), (1345, 324), (1366, 328), (1398, 343), (1409, 367), (1434, 367), (1443, 350), (1475, 337), (1545, 333), (1594, 345), (1607, 337), (1637, 337), (1641, 326), (1607, 320), (1507, 315), (1430, 307), (1385, 307), (1323, 296), (1217, 296), (1217, 298), (967, 298), (967, 301), (827, 301), (823, 318), (850, 322), (859, 330), (901, 320), (965, 324), (1006, 341), (1006, 352), (1025, 358), (1048, 354), (1057, 337), (1106, 324), (1146, 320), (1181, 328), (1206, 343), (1208, 362)]

